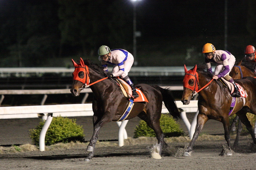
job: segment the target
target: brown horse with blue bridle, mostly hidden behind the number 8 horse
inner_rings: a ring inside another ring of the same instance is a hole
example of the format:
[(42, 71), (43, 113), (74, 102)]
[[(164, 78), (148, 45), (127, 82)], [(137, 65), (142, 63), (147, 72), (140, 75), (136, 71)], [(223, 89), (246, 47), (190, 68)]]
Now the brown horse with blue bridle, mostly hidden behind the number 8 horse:
[[(244, 77), (255, 77), (254, 74), (255, 64), (252, 62), (243, 62), (242, 60), (236, 61), (234, 67), (230, 71), (229, 75), (234, 79), (242, 79)], [(236, 116), (230, 126), (230, 131), (236, 130), (236, 123), (238, 121), (237, 135), (234, 141), (233, 147), (238, 146), (239, 137), (242, 131), (242, 122), (239, 120), (238, 116)]]

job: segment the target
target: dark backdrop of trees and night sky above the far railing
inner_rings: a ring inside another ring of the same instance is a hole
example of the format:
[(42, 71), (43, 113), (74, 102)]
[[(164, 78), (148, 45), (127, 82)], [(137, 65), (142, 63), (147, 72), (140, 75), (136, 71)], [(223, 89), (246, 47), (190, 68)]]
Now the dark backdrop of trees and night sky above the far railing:
[[(228, 0), (228, 34), (246, 37), (239, 46), (256, 45), (255, 6), (256, 0)], [(4, 0), (0, 16), (0, 67), (54, 66), (47, 59), (96, 56), (102, 44), (132, 52), (131, 0)], [(165, 38), (223, 36), (224, 1), (142, 0), (137, 30), (145, 55)]]

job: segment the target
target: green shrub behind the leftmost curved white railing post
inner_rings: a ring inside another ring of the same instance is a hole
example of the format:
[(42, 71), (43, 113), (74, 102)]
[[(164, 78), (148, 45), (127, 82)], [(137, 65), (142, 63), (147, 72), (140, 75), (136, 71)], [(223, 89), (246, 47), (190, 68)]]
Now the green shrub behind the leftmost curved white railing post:
[[(30, 129), (30, 138), (33, 143), (39, 146), (39, 136), (44, 126), (45, 120), (39, 122), (35, 129)], [(45, 135), (45, 145), (54, 143), (67, 143), (71, 141), (84, 142), (82, 126), (76, 124), (76, 119), (54, 117)]]

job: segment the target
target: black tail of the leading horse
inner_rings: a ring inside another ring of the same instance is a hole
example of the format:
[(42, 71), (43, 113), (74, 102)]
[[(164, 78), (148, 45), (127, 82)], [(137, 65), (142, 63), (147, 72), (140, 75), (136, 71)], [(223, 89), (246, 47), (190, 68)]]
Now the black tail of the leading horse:
[(163, 96), (163, 103), (165, 104), (165, 107), (169, 111), (169, 113), (175, 118), (175, 119), (180, 119), (180, 112), (177, 108), (176, 102), (173, 98), (172, 91), (170, 88), (161, 88), (159, 86), (154, 86), (157, 88)]

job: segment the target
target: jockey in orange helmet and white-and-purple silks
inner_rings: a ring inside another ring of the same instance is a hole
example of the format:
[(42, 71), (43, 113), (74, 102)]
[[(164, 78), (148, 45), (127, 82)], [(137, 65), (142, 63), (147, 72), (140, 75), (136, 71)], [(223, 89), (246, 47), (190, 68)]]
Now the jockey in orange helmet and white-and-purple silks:
[(207, 65), (208, 74), (212, 75), (211, 63), (217, 63), (213, 72), (212, 79), (218, 79), (223, 77), (234, 85), (234, 92), (231, 94), (233, 97), (240, 97), (240, 92), (234, 80), (230, 77), (229, 72), (233, 68), (236, 58), (228, 51), (215, 50), (215, 47), (210, 44), (204, 44), (203, 46), (204, 61)]

